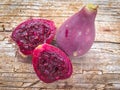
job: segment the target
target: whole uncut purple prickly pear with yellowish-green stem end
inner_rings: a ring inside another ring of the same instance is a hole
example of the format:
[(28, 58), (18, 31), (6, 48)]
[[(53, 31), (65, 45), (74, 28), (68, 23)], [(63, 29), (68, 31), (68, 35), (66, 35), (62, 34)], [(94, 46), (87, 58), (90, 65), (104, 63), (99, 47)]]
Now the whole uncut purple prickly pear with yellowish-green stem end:
[(57, 45), (69, 56), (82, 56), (91, 48), (95, 39), (97, 7), (93, 4), (84, 6), (58, 29)]

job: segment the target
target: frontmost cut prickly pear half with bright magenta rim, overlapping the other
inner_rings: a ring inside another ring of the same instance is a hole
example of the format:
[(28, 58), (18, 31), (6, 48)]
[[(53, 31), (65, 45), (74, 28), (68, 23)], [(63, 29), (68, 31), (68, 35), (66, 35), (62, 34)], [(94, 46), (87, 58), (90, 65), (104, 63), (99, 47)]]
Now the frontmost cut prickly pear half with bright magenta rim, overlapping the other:
[(66, 54), (46, 43), (35, 48), (32, 62), (37, 76), (45, 83), (66, 79), (72, 74), (72, 64)]

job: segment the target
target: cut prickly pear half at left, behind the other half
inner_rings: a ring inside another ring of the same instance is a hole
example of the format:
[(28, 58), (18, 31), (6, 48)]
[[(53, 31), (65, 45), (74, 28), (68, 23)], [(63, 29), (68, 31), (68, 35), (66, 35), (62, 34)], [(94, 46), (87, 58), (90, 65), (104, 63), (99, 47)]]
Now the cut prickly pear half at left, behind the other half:
[(30, 19), (22, 22), (12, 32), (12, 39), (24, 55), (31, 55), (42, 43), (51, 43), (56, 33), (54, 22), (46, 19)]

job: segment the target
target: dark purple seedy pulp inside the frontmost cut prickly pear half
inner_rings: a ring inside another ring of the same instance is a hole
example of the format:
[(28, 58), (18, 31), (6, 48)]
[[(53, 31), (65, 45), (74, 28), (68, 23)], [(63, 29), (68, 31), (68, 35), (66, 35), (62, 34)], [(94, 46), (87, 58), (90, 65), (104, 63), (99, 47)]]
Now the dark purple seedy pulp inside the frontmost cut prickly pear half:
[(62, 57), (52, 52), (44, 51), (38, 61), (38, 70), (46, 79), (54, 81), (64, 77), (68, 71)]

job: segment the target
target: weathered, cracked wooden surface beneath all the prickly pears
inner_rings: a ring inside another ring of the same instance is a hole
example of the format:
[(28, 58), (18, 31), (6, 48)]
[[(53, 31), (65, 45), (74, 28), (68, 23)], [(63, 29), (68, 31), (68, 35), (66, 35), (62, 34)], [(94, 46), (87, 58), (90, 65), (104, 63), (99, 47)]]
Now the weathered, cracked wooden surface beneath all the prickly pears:
[[(99, 5), (91, 50), (72, 59), (71, 78), (39, 81), (32, 64), (16, 55), (12, 30), (31, 17), (54, 20), (59, 27), (88, 2)], [(0, 0), (0, 90), (120, 90), (120, 0)]]

